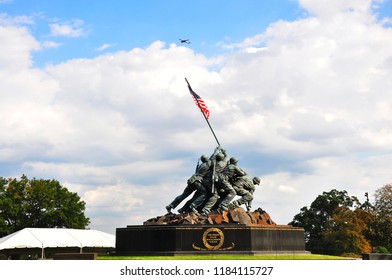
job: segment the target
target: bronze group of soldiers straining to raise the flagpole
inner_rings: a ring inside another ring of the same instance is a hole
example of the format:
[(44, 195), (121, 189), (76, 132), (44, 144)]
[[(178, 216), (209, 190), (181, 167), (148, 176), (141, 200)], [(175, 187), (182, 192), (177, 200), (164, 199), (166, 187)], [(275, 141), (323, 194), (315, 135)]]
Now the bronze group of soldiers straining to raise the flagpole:
[[(237, 166), (235, 157), (228, 158), (221, 146), (215, 148), (210, 158), (202, 155), (201, 164), (198, 162), (195, 174), (188, 179), (183, 193), (166, 206), (168, 213), (172, 213), (171, 210), (193, 192), (194, 195), (178, 210), (179, 213), (208, 215), (212, 211), (222, 213), (243, 204), (250, 211), (255, 185), (260, 184), (260, 178), (251, 179)], [(232, 202), (236, 195), (241, 198)]]

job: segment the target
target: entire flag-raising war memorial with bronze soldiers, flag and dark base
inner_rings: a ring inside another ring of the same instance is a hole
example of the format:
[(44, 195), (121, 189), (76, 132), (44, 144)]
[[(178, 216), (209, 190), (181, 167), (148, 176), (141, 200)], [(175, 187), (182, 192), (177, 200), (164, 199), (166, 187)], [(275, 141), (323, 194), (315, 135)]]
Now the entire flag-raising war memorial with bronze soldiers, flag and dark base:
[[(185, 79), (186, 80), (186, 79)], [(251, 211), (259, 177), (251, 177), (228, 157), (209, 121), (209, 110), (191, 88), (218, 143), (211, 156), (202, 155), (183, 192), (166, 206), (167, 214), (143, 225), (116, 229), (116, 255), (304, 254), (304, 230), (277, 225), (261, 208)], [(185, 199), (185, 204), (172, 211)], [(163, 208), (164, 206), (162, 206)]]

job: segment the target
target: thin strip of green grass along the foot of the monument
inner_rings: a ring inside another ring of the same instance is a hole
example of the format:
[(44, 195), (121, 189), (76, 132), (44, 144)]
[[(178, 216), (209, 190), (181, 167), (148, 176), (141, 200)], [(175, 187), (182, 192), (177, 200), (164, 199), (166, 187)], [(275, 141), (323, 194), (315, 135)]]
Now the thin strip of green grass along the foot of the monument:
[[(192, 255), (192, 256), (98, 256), (99, 260), (347, 260), (328, 255)], [(352, 258), (350, 258), (352, 259)]]

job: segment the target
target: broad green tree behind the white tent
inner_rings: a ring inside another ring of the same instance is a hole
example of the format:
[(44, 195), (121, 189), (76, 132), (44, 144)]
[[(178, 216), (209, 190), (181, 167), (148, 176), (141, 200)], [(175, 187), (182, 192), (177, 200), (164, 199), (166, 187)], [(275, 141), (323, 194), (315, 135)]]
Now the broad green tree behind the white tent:
[(85, 202), (56, 180), (0, 177), (0, 237), (26, 227), (85, 228)]

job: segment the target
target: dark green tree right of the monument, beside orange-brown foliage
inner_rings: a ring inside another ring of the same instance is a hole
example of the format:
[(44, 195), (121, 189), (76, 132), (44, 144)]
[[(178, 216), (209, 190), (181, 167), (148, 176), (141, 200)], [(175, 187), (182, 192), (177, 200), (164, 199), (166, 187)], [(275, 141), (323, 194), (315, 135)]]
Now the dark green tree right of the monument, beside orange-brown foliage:
[(347, 191), (332, 189), (323, 192), (311, 203), (310, 207), (303, 207), (289, 224), (302, 227), (305, 230), (306, 249), (317, 254), (331, 254), (328, 249), (330, 240), (325, 238), (331, 220), (339, 208), (350, 209), (359, 207), (359, 200), (349, 196)]

